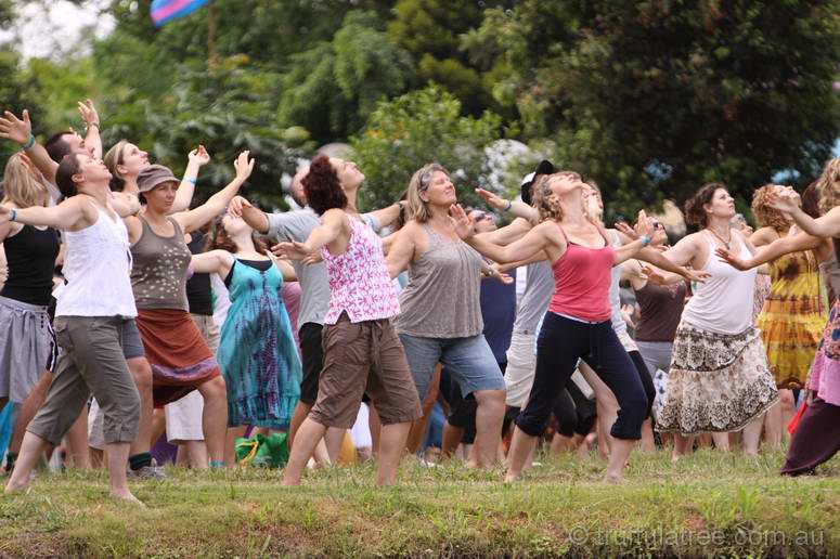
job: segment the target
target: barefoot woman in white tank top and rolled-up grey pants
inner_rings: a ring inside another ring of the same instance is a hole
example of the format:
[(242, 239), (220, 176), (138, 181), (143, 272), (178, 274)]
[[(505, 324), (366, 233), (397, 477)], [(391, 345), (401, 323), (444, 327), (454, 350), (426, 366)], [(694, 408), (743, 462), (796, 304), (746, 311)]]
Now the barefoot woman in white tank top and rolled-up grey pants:
[(140, 503), (126, 481), (140, 399), (119, 340), (121, 323), (137, 315), (129, 280), (131, 253), (120, 218), (137, 213), (140, 204), (133, 196), (115, 197), (109, 180), (101, 160), (87, 153), (70, 154), (56, 171), (65, 202), (51, 208), (0, 207), (0, 221), (64, 231), (67, 249), (66, 286), (55, 311), (55, 332), (64, 351), (47, 401), (29, 422), (7, 492), (26, 490), (47, 444), (61, 442), (93, 392), (105, 412), (111, 493)]

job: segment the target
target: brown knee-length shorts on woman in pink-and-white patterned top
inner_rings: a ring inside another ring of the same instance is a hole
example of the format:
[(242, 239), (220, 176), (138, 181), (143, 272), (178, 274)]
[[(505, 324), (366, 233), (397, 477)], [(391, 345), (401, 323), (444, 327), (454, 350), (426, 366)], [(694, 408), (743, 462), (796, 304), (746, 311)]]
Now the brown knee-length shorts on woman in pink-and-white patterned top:
[(310, 418), (349, 429), (366, 392), (383, 425), (423, 416), (405, 353), (389, 320), (351, 323), (343, 313), (324, 325), (324, 368)]

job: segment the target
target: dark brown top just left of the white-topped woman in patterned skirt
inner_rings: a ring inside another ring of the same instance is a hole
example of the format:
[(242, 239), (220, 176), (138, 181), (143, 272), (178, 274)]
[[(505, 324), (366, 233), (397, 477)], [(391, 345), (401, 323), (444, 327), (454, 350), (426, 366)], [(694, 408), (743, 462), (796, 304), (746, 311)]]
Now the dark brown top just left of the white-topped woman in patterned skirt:
[(685, 282), (673, 285), (646, 283), (636, 289), (642, 317), (636, 327), (638, 341), (674, 341), (685, 307)]

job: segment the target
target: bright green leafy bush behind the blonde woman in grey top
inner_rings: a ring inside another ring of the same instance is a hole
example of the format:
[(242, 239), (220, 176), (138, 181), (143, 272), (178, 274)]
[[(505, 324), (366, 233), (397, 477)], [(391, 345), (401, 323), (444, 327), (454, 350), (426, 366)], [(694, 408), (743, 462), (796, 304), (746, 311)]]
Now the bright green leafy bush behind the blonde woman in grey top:
[(484, 147), (499, 139), (501, 118), (461, 116), (461, 102), (431, 84), (379, 103), (367, 127), (351, 139), (365, 174), (361, 204), (382, 207), (398, 199), (415, 170), (437, 161), (452, 174), (458, 202), (477, 204), (474, 190), (487, 185)]

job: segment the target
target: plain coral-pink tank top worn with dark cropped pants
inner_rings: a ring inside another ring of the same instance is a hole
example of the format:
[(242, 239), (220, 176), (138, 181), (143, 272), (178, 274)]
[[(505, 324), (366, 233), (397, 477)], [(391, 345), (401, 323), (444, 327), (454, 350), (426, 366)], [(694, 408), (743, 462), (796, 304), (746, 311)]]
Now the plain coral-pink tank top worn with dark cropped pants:
[(552, 264), (554, 271), (554, 295), (548, 310), (586, 322), (610, 320), (609, 286), (616, 250), (604, 236), (602, 248), (589, 248), (569, 240), (566, 232), (557, 224), (566, 239), (566, 252)]

